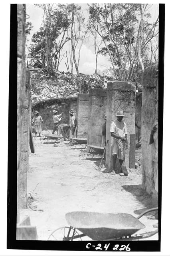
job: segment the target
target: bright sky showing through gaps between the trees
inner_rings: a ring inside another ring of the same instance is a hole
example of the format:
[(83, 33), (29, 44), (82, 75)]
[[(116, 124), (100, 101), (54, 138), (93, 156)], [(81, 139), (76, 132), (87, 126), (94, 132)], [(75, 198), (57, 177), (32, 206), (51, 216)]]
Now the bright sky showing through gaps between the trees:
[[(79, 4), (83, 10), (84, 15), (87, 16), (88, 6), (87, 4)], [(154, 22), (158, 16), (159, 7), (158, 4), (152, 4), (149, 12), (152, 15), (150, 22)], [(42, 24), (43, 10), (39, 7), (35, 7), (34, 4), (26, 4), (26, 13), (29, 15), (27, 21), (32, 22), (33, 29), (31, 34), (28, 36), (29, 42), (32, 38), (32, 35), (39, 30)], [(29, 43), (28, 43), (29, 45)], [(68, 51), (68, 44), (65, 44), (63, 51)], [(108, 56), (98, 56), (98, 73), (102, 74), (103, 70), (108, 69), (111, 66)], [(59, 66), (60, 71), (67, 71), (65, 66), (65, 60), (61, 61)], [(79, 63), (79, 72), (83, 74), (93, 74), (95, 72), (95, 52), (92, 46), (91, 41), (83, 44), (80, 52), (80, 63)], [(75, 68), (73, 69), (75, 72)]]

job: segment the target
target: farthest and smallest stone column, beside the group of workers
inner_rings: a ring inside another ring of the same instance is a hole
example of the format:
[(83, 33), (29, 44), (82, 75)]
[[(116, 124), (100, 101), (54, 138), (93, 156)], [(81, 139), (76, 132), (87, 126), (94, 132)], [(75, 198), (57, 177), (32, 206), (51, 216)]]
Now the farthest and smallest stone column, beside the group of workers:
[(89, 117), (89, 94), (77, 96), (77, 137), (87, 138)]

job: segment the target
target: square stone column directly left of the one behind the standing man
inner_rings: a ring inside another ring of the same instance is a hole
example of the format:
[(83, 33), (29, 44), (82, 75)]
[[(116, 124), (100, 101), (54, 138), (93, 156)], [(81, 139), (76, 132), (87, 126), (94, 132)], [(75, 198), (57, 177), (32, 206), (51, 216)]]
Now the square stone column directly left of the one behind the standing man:
[(101, 126), (104, 124), (106, 114), (107, 90), (89, 90), (89, 119), (87, 145), (103, 147)]

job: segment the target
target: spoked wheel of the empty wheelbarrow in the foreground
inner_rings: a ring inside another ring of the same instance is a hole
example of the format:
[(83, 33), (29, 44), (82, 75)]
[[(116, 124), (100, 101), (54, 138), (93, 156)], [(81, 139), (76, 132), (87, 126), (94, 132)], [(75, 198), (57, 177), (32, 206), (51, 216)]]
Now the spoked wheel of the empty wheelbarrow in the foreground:
[[(70, 232), (69, 232), (70, 231)], [(67, 238), (69, 236), (69, 238)], [(76, 238), (74, 238), (76, 236)], [(62, 227), (54, 230), (48, 237), (48, 241), (81, 241), (80, 234), (72, 227)]]

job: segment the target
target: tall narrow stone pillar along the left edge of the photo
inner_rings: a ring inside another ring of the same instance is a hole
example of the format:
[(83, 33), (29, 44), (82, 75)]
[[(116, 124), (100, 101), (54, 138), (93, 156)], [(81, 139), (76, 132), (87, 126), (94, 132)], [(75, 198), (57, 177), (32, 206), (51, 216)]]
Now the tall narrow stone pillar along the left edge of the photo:
[[(25, 20), (26, 5), (17, 5), (18, 18), (18, 79), (17, 79), (17, 209), (26, 208), (26, 172), (23, 161), (26, 163), (28, 158), (24, 151), (28, 151), (28, 144), (24, 145), (23, 131), (27, 130), (26, 122), (26, 70), (25, 70)], [(27, 135), (26, 135), (27, 136)], [(27, 138), (26, 138), (27, 141)], [(23, 172), (24, 171), (24, 172)]]

